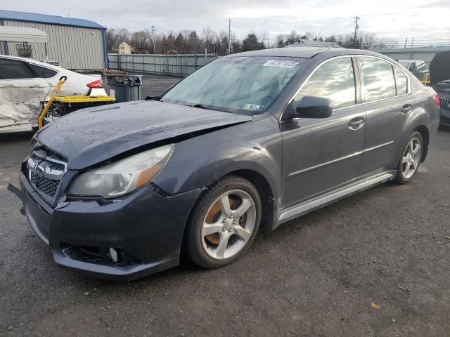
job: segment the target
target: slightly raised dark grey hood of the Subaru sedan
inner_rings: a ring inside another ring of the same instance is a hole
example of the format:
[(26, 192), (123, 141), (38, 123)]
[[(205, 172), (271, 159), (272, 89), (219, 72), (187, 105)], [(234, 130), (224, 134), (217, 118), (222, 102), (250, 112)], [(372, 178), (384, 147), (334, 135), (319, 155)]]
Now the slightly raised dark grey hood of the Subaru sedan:
[(136, 147), (252, 119), (243, 114), (135, 101), (72, 112), (48, 124), (35, 138), (68, 159), (68, 169), (84, 169)]

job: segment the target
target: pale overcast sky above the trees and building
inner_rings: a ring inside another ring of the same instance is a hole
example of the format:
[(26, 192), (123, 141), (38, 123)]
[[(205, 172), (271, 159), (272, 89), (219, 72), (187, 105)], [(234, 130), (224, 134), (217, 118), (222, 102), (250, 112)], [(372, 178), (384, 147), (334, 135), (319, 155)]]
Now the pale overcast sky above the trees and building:
[(70, 15), (130, 31), (155, 25), (164, 33), (201, 33), (205, 27), (228, 31), (231, 18), (236, 37), (268, 32), (272, 39), (293, 29), (323, 37), (350, 33), (352, 17), (359, 15), (360, 29), (380, 37), (450, 44), (450, 0), (1, 0), (0, 8)]

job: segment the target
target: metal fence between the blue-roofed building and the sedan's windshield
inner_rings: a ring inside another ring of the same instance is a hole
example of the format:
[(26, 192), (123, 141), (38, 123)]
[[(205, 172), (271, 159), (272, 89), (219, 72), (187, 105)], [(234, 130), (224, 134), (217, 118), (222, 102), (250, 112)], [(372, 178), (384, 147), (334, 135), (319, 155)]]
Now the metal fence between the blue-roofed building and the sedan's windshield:
[(188, 75), (217, 58), (214, 54), (108, 54), (110, 69), (150, 74)]

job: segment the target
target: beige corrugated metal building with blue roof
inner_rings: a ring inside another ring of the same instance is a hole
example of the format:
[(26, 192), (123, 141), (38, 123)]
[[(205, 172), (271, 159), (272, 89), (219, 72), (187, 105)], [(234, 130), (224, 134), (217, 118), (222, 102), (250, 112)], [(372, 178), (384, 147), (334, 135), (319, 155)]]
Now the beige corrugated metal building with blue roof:
[(52, 60), (71, 70), (108, 68), (106, 27), (96, 22), (58, 15), (0, 10), (0, 26), (30, 27), (47, 35), (47, 42), (0, 41), (0, 53)]

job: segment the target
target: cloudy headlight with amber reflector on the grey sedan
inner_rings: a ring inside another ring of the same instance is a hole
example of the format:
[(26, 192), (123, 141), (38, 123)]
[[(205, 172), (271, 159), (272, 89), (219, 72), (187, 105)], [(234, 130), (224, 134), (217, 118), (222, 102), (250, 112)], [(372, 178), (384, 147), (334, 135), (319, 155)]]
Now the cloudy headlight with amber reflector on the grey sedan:
[(134, 154), (83, 173), (70, 185), (68, 194), (119, 197), (150, 183), (169, 161), (174, 144)]

